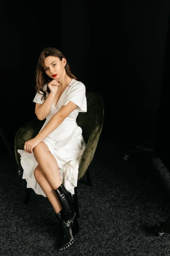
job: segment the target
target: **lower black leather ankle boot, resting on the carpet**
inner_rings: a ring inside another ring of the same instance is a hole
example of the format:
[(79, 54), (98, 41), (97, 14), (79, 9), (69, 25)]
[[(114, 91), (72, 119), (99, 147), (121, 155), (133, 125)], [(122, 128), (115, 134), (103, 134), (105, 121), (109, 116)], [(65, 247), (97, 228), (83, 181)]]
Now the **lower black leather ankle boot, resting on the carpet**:
[[(65, 222), (63, 219), (64, 211), (61, 210), (59, 213), (56, 213), (56, 216), (60, 223), (60, 242), (59, 242), (59, 250), (65, 250), (69, 248), (76, 238), (76, 234), (78, 232), (76, 223), (74, 220)], [(79, 228), (79, 227), (78, 227)]]

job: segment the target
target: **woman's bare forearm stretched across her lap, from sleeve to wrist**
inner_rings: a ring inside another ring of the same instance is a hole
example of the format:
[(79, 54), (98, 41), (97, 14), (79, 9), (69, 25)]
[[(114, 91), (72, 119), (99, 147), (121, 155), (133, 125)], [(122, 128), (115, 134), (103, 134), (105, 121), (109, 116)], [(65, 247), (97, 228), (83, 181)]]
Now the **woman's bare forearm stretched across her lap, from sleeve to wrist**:
[(45, 127), (39, 132), (39, 134), (37, 134), (35, 138), (39, 141), (45, 139), (45, 137), (51, 134), (51, 132), (53, 132), (64, 121), (64, 119), (76, 108), (77, 105), (71, 101), (68, 102), (66, 105), (62, 106), (60, 110), (56, 114), (54, 114), (54, 116), (51, 117), (51, 119), (48, 121)]

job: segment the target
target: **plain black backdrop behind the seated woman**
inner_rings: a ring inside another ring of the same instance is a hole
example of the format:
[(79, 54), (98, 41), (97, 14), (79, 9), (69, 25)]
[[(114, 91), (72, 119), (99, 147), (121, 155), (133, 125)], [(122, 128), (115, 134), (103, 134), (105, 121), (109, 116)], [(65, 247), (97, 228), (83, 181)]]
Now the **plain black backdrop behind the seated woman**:
[[(86, 89), (102, 94), (102, 137), (110, 137), (111, 143), (130, 136), (156, 143), (161, 138), (161, 93), (167, 94), (168, 87), (163, 75), (169, 7), (168, 0), (58, 0), (36, 1), (36, 6), (4, 1), (0, 127), (11, 147), (17, 129), (36, 118), (35, 68), (47, 46), (61, 49)], [(2, 139), (1, 145), (4, 152)]]

